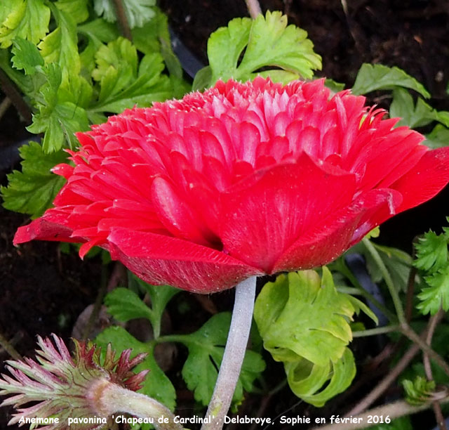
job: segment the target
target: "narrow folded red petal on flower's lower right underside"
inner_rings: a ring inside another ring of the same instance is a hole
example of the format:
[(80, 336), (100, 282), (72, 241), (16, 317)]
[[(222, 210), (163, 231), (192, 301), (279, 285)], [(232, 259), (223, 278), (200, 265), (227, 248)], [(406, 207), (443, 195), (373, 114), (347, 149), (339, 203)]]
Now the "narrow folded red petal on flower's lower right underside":
[(401, 204), (394, 190), (372, 190), (300, 237), (274, 264), (272, 273), (322, 266), (340, 256)]

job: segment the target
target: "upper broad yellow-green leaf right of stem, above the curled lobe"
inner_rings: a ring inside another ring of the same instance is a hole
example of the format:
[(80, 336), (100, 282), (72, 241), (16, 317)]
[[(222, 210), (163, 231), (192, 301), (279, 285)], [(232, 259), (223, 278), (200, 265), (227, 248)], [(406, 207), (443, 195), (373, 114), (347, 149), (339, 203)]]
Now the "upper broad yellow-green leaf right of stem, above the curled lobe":
[(304, 357), (326, 366), (339, 360), (351, 341), (354, 306), (337, 292), (328, 268), (279, 275), (255, 302), (254, 318), (266, 348), (278, 361)]

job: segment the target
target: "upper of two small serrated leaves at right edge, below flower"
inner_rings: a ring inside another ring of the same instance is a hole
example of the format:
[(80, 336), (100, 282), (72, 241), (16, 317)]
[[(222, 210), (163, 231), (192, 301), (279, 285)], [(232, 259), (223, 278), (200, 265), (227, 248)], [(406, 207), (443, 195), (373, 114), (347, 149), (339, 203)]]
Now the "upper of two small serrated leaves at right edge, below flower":
[(413, 265), (422, 271), (434, 273), (448, 264), (448, 234), (436, 235), (433, 231), (424, 234), (415, 244), (417, 250)]

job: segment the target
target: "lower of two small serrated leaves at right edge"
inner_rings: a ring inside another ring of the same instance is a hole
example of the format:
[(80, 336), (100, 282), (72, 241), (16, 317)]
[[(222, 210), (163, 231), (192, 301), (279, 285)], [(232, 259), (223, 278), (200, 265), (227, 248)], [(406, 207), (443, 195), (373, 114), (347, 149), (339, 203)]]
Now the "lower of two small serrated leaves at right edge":
[(440, 269), (433, 275), (426, 276), (425, 281), (429, 287), (424, 287), (418, 299), (417, 308), (423, 315), (430, 313), (435, 315), (440, 308), (449, 310), (449, 265)]

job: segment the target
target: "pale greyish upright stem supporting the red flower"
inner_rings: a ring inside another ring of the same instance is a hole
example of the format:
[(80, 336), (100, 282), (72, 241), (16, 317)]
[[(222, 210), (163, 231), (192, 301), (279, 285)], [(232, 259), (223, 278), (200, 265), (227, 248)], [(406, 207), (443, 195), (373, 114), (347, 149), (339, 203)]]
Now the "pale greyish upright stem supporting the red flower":
[(210, 423), (204, 423), (201, 430), (220, 430), (231, 405), (232, 396), (239, 379), (241, 365), (245, 357), (246, 344), (253, 320), (255, 276), (243, 280), (236, 286), (234, 310), (232, 311), (231, 327), (227, 337), (220, 372), (209, 403), (206, 418)]

